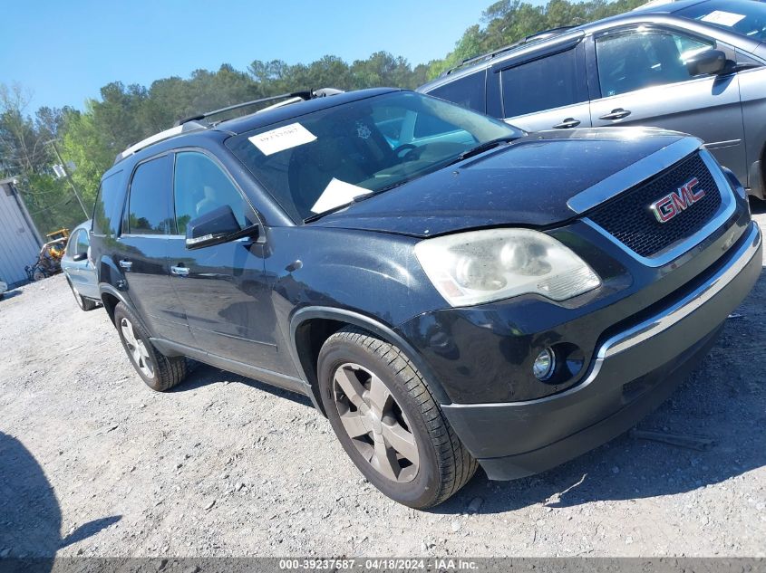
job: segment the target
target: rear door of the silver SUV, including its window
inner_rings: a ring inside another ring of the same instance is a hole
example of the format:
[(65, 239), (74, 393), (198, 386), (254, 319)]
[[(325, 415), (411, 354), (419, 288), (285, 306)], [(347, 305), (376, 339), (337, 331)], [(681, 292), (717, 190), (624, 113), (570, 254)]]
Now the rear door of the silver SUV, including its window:
[(590, 127), (582, 44), (509, 67), (499, 73), (503, 118), (527, 131)]

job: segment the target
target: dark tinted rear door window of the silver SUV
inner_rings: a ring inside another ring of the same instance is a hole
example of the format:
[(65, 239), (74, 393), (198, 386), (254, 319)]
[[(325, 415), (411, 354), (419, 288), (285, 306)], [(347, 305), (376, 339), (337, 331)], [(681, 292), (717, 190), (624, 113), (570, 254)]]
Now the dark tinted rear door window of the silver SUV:
[(500, 72), (506, 118), (587, 100), (585, 73), (576, 49)]

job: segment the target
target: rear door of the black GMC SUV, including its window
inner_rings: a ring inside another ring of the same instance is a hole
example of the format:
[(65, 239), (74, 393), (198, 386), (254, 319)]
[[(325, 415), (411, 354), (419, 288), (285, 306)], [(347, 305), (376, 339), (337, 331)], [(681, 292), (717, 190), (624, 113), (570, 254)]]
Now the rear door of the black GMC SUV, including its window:
[(191, 342), (186, 315), (170, 287), (168, 242), (175, 227), (171, 154), (141, 162), (128, 189), (117, 264), (128, 296), (157, 338)]

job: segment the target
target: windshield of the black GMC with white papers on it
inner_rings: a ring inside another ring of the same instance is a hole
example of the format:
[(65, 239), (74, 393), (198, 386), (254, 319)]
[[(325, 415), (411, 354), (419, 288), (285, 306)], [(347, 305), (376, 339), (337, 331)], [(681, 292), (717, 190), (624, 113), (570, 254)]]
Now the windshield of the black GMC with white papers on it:
[(469, 149), (524, 132), (412, 91), (315, 111), (228, 140), (296, 221), (448, 165)]

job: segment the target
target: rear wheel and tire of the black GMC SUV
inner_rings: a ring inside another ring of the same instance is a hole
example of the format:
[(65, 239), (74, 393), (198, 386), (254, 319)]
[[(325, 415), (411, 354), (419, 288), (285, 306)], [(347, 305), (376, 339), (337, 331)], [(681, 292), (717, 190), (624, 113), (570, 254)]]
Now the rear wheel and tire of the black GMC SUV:
[(152, 390), (166, 392), (186, 377), (186, 358), (162, 354), (151, 343), (141, 320), (123, 302), (114, 307), (114, 325), (133, 368)]

